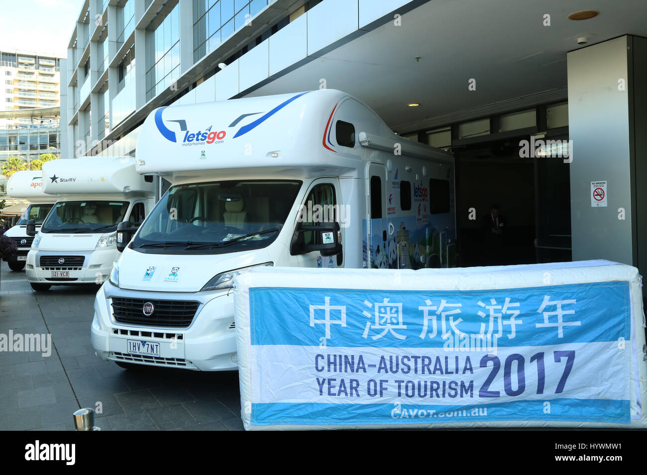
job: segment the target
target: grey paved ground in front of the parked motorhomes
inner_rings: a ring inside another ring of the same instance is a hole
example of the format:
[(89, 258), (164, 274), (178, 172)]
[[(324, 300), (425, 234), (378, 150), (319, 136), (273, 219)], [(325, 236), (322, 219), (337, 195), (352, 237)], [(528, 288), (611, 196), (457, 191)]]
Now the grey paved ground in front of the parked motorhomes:
[[(97, 409), (102, 430), (242, 430), (237, 372), (124, 370), (90, 344), (96, 289), (31, 290), (0, 265), (0, 338), (52, 335), (51, 355), (0, 350), (0, 430), (74, 430), (72, 412)], [(101, 410), (102, 412), (99, 412)]]

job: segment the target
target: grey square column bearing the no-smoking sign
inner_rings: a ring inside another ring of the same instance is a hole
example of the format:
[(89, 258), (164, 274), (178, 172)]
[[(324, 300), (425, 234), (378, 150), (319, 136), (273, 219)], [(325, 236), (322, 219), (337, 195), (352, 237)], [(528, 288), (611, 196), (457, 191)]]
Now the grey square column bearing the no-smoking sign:
[[(569, 52), (567, 68), (573, 260), (647, 272), (647, 39)], [(606, 182), (606, 206), (592, 206), (591, 182)]]

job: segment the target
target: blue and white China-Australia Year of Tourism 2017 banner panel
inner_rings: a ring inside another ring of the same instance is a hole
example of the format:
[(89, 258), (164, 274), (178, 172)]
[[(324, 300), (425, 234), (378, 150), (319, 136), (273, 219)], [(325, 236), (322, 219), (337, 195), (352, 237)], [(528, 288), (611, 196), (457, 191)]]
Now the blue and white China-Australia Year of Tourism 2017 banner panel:
[(252, 287), (243, 411), (253, 425), (630, 423), (630, 291)]

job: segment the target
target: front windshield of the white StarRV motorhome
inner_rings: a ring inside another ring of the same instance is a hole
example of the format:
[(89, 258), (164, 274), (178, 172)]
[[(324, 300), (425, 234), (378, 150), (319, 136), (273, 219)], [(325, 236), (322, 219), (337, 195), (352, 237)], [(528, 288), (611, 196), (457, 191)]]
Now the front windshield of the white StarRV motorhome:
[(127, 201), (60, 201), (43, 222), (41, 232), (108, 233), (117, 229), (127, 209)]

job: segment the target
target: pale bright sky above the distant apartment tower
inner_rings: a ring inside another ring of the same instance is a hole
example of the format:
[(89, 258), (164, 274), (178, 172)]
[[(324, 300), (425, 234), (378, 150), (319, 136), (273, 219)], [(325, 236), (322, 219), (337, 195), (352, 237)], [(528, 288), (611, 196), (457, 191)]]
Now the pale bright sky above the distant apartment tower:
[(67, 57), (83, 0), (0, 0), (0, 50)]

